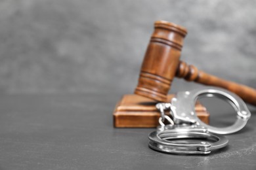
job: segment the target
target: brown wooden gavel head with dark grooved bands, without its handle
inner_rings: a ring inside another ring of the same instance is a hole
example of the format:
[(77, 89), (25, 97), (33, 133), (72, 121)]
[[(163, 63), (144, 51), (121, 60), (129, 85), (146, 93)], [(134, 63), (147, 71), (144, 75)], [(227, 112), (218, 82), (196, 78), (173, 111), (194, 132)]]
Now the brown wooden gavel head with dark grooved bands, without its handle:
[(135, 93), (165, 102), (179, 66), (187, 31), (180, 25), (165, 21), (155, 22), (154, 27)]

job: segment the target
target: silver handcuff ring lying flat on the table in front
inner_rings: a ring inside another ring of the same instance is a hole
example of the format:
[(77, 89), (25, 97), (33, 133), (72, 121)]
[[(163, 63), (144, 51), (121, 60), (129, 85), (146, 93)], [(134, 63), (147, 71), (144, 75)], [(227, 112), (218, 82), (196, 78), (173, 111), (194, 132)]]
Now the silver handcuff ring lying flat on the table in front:
[(226, 137), (209, 133), (207, 129), (197, 126), (167, 126), (163, 131), (150, 133), (148, 137), (150, 148), (172, 154), (209, 154), (228, 144)]

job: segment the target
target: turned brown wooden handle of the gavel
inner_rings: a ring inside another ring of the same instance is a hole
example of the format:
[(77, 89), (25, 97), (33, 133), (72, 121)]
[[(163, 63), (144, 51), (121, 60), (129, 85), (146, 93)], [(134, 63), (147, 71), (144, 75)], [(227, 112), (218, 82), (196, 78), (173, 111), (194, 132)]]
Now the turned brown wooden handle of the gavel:
[(194, 65), (187, 65), (184, 61), (180, 61), (179, 67), (177, 68), (176, 76), (184, 78), (188, 81), (199, 82), (208, 86), (218, 86), (225, 88), (230, 92), (236, 93), (245, 102), (251, 105), (256, 105), (256, 90), (242, 84), (236, 84), (219, 78), (217, 76), (209, 75), (203, 71), (199, 71)]

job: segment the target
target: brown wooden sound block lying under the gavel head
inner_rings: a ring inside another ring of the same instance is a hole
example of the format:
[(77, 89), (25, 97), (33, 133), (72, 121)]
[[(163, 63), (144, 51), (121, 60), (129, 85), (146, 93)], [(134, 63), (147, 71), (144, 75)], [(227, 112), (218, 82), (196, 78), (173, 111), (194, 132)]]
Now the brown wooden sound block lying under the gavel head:
[[(168, 95), (169, 101), (174, 95)], [(114, 127), (156, 127), (160, 112), (156, 101), (136, 94), (123, 95), (114, 110)], [(200, 103), (196, 103), (196, 114), (209, 124), (209, 113)]]

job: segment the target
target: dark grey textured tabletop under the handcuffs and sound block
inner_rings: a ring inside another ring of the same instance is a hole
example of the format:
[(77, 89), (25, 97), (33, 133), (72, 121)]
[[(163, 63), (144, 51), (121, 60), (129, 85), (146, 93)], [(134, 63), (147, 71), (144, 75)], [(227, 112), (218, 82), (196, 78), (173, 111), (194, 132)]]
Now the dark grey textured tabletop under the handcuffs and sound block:
[[(256, 169), (255, 107), (247, 126), (227, 135), (228, 147), (181, 156), (148, 148), (154, 129), (115, 129), (112, 111), (120, 97), (1, 95), (0, 169)], [(230, 124), (233, 114), (220, 116), (219, 104), (209, 104), (216, 111), (213, 123)]]

